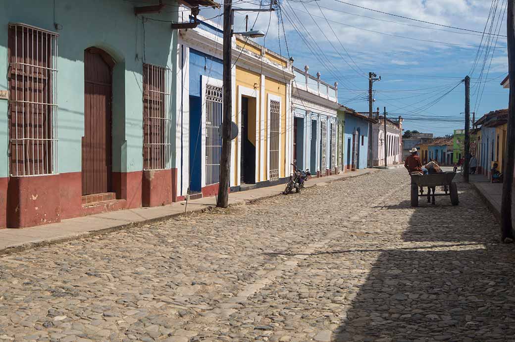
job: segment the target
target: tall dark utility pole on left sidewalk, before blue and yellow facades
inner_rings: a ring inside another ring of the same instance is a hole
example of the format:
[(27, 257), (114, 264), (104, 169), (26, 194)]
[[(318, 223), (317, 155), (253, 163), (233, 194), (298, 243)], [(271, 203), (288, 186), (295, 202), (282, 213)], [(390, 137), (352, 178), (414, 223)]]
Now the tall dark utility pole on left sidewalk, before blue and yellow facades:
[(220, 183), (216, 206), (229, 206), (229, 178), (231, 175), (231, 122), (232, 122), (232, 79), (231, 79), (231, 36), (232, 36), (232, 0), (224, 2), (224, 96), (222, 112), (222, 150), (220, 156)]

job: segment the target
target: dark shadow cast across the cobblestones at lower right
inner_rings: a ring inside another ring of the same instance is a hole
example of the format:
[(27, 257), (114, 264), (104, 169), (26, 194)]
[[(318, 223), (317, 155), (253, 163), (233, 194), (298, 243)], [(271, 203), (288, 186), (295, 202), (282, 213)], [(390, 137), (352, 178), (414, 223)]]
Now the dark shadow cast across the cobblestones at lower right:
[[(498, 242), (499, 226), (471, 187), (458, 189), (458, 207), (439, 197), (411, 209), (402, 234), (410, 246), (382, 250), (333, 340), (515, 338), (513, 245)], [(384, 207), (407, 208), (408, 200)]]

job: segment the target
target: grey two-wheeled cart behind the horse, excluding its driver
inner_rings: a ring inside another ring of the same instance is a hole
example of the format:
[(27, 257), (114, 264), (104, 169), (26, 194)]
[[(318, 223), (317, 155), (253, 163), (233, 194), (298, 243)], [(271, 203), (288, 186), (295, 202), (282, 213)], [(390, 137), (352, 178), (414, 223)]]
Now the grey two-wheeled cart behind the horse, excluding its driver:
[[(457, 206), (459, 203), (458, 199), (458, 187), (456, 183), (453, 182), (454, 176), (456, 173), (454, 172), (444, 172), (439, 174), (432, 175), (421, 175), (415, 174), (411, 175), (411, 207), (418, 207), (419, 197), (427, 196), (427, 201), (429, 202), (431, 197), (430, 189), (433, 189), (433, 204), (435, 203), (435, 196), (450, 196), (451, 203), (453, 206)], [(435, 194), (435, 189), (437, 186), (443, 186), (444, 192), (443, 194)], [(427, 187), (427, 194), (423, 193), (423, 188)], [(420, 193), (419, 193), (420, 189)]]

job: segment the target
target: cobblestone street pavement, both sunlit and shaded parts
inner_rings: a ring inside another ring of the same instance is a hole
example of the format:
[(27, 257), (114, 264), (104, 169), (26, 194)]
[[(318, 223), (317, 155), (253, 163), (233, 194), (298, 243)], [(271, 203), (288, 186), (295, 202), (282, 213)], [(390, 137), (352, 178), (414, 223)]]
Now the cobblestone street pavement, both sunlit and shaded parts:
[(0, 340), (515, 340), (513, 245), (404, 170), (0, 258)]

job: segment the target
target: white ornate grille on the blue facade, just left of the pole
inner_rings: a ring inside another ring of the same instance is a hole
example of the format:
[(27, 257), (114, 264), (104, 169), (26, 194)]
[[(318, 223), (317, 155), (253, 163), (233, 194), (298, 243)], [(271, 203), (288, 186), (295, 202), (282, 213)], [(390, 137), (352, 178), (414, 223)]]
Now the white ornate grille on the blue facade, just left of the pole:
[(220, 181), (222, 88), (205, 86), (205, 185)]

